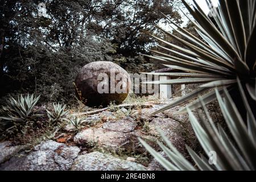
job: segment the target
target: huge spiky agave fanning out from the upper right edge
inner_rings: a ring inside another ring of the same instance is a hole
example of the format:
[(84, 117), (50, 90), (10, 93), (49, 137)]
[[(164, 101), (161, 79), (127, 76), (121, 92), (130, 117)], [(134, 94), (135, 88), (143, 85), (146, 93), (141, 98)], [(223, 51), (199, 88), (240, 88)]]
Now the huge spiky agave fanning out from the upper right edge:
[[(174, 31), (176, 31), (181, 38), (159, 28), (170, 35), (171, 38), (180, 42), (185, 48), (153, 36), (160, 42), (179, 49), (179, 52), (160, 46), (177, 56), (171, 56), (158, 51), (153, 51), (158, 54), (158, 56), (145, 56), (164, 61), (167, 67), (179, 69), (181, 72), (160, 73), (161, 75), (178, 78), (166, 81), (154, 81), (150, 82), (150, 84), (201, 85), (199, 89), (188, 93), (187, 96), (181, 97), (179, 100), (156, 111), (156, 113), (187, 102), (199, 96), (199, 94), (210, 90), (210, 92), (204, 94), (202, 97), (205, 104), (208, 104), (210, 101), (216, 100), (216, 94), (212, 88), (218, 87), (220, 93), (223, 92), (224, 86), (227, 86), (229, 91), (238, 90), (237, 77), (245, 87), (246, 95), (250, 97), (250, 104), (255, 103), (256, 1), (220, 0), (218, 10), (213, 9), (214, 20), (211, 20), (204, 14), (196, 1), (193, 0), (193, 8), (184, 0), (182, 1), (195, 20), (190, 19), (188, 16), (187, 18), (195, 25), (196, 31), (204, 41), (184, 30), (184, 28), (166, 17), (170, 20), (172, 25), (176, 27)], [(206, 0), (206, 2), (208, 5), (212, 5), (212, 1)], [(149, 74), (160, 75), (159, 73)], [(197, 99), (188, 106), (190, 109), (195, 109), (200, 105), (200, 100)], [(186, 109), (184, 107), (177, 113), (183, 113), (185, 111)]]

